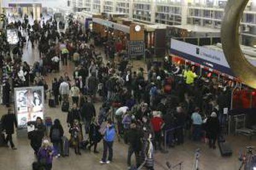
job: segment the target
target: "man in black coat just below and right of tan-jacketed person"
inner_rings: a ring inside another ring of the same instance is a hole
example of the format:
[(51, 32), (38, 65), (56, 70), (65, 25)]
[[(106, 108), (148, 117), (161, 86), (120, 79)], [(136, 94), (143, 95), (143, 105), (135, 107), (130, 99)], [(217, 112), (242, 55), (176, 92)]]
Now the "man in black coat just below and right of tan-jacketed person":
[(95, 107), (90, 99), (85, 99), (85, 103), (81, 108), (81, 116), (85, 124), (85, 133), (88, 133), (92, 118), (96, 116)]

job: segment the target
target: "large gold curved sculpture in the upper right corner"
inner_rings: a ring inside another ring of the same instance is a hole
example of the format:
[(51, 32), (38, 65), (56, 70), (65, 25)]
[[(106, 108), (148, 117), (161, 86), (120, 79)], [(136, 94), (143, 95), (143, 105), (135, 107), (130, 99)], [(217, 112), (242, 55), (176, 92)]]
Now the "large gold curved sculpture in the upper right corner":
[(239, 46), (239, 25), (249, 0), (229, 0), (221, 26), (223, 51), (234, 74), (242, 82), (256, 88), (256, 68), (245, 59)]

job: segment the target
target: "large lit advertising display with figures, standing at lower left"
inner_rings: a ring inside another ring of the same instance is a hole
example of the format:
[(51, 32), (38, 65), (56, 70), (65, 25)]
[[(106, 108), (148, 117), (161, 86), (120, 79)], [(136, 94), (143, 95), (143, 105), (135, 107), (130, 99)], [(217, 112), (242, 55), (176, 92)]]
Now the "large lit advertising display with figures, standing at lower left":
[(19, 128), (27, 127), (37, 117), (43, 119), (44, 92), (42, 86), (15, 88), (15, 111)]

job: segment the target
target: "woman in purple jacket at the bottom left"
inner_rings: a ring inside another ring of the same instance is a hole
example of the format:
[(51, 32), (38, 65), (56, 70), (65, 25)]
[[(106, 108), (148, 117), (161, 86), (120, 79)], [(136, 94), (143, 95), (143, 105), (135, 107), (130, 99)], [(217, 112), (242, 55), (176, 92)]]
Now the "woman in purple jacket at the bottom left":
[(49, 140), (43, 140), (38, 153), (38, 163), (45, 170), (50, 170), (53, 167), (53, 147), (50, 146)]

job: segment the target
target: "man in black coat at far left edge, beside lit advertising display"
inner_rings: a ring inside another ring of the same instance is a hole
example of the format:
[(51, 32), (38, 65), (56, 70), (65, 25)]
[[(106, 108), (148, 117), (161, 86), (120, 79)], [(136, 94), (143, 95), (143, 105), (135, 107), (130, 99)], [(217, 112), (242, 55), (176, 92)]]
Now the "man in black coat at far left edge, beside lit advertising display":
[(12, 134), (14, 134), (14, 126), (17, 128), (17, 119), (14, 113), (12, 113), (11, 108), (8, 109), (8, 114), (4, 116), (3, 119), (4, 130), (6, 131), (6, 143), (10, 142), (13, 150), (16, 150), (14, 142), (12, 142)]

